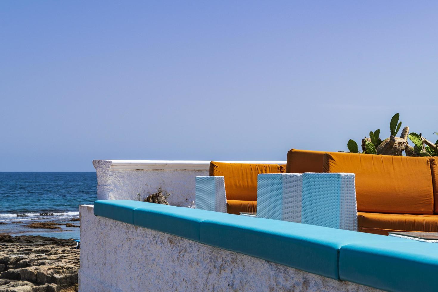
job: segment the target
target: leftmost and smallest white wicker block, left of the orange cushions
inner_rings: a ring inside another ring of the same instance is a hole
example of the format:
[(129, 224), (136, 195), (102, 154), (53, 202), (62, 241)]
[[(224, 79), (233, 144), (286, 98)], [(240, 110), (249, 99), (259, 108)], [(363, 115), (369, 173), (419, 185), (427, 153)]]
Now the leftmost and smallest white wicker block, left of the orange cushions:
[(197, 176), (195, 183), (196, 209), (226, 213), (223, 176)]

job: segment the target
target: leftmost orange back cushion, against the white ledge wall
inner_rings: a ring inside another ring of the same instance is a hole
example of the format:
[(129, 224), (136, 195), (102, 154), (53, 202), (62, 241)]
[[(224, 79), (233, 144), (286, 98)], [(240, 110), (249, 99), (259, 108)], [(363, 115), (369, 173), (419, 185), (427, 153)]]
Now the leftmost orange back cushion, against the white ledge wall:
[(280, 165), (210, 162), (210, 176), (225, 178), (227, 200), (256, 201), (259, 173), (280, 173)]

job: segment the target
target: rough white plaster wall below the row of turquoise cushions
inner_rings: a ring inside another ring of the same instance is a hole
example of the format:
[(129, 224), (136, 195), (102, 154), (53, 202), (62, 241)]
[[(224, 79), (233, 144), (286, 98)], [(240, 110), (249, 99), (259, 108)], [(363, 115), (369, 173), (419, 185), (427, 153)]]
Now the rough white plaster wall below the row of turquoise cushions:
[(79, 209), (80, 292), (378, 291)]

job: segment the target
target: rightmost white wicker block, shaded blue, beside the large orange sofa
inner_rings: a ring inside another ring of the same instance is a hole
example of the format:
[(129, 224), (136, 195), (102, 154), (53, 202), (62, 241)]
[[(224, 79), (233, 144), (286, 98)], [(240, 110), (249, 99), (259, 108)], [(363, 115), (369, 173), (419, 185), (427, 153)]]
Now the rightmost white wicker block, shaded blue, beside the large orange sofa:
[(304, 173), (301, 223), (357, 231), (354, 179), (354, 173)]

